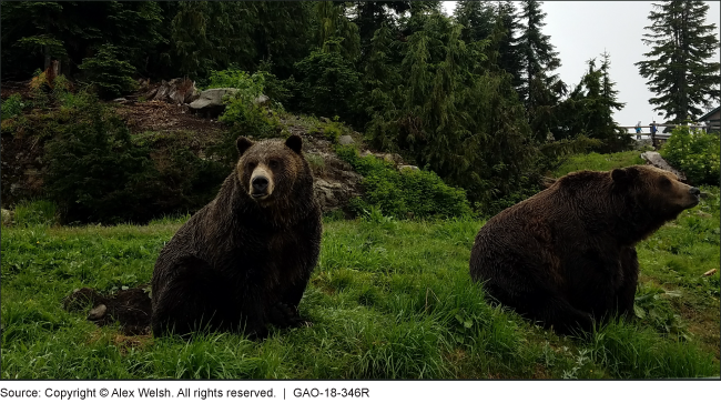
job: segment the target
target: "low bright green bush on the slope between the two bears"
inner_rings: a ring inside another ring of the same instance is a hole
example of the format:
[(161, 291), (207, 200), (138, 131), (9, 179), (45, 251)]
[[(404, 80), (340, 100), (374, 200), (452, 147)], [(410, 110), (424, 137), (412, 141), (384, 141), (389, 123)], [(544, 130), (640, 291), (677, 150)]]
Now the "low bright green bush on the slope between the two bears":
[(352, 147), (338, 147), (336, 152), (364, 177), (363, 199), (351, 202), (358, 215), (390, 214), (398, 219), (471, 215), (466, 193), (445, 184), (434, 172), (410, 169), (399, 172), (373, 155), (358, 157)]

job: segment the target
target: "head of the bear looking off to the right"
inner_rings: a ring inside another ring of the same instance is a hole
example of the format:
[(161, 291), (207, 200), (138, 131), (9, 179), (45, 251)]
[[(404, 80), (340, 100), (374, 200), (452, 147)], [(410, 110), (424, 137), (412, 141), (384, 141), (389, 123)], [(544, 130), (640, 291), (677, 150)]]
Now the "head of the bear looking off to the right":
[(676, 219), (683, 210), (699, 204), (701, 191), (669, 171), (651, 165), (634, 165), (611, 171), (616, 189), (633, 198), (641, 209), (662, 221)]

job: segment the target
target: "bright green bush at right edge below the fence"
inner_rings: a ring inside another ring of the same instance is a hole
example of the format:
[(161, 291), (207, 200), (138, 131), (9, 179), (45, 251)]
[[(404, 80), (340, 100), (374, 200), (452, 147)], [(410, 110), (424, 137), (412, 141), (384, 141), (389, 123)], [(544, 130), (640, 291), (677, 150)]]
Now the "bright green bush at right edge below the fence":
[(663, 144), (661, 157), (695, 185), (719, 185), (721, 140), (718, 134), (679, 125)]

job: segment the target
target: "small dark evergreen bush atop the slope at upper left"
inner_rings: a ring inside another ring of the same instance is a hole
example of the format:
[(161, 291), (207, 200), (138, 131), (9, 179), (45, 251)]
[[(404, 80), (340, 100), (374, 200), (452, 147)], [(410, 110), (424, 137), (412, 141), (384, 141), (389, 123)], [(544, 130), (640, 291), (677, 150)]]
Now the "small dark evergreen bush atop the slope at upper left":
[(78, 68), (85, 70), (88, 83), (95, 87), (103, 98), (119, 97), (138, 88), (138, 83), (132, 78), (135, 68), (120, 60), (118, 49), (112, 44), (98, 49), (94, 57), (83, 59)]

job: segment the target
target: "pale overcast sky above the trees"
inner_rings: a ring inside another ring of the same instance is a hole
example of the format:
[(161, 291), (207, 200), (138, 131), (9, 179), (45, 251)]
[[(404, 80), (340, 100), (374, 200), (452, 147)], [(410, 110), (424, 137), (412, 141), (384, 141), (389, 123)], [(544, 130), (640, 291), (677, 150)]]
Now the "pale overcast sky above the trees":
[[(603, 50), (611, 60), (610, 78), (619, 91), (618, 99), (626, 107), (613, 114), (620, 125), (634, 125), (639, 120), (643, 125), (656, 119), (662, 122), (661, 112), (653, 112), (649, 98), (654, 94), (648, 90), (647, 79), (639, 74), (634, 62), (644, 59), (643, 53), (651, 50), (641, 42), (643, 27), (650, 26), (648, 19), (652, 1), (544, 1), (546, 12), (544, 34), (559, 53), (561, 67), (556, 70), (569, 88), (578, 84), (591, 58), (601, 60)], [(657, 3), (659, 3), (657, 1)], [(719, 37), (721, 7), (719, 1), (707, 1), (707, 23), (715, 24)], [(453, 14), (455, 1), (444, 2), (444, 9)], [(715, 61), (721, 58), (717, 50)], [(599, 66), (598, 63), (596, 66)], [(718, 105), (714, 105), (718, 107)], [(646, 131), (646, 130), (644, 130)]]

